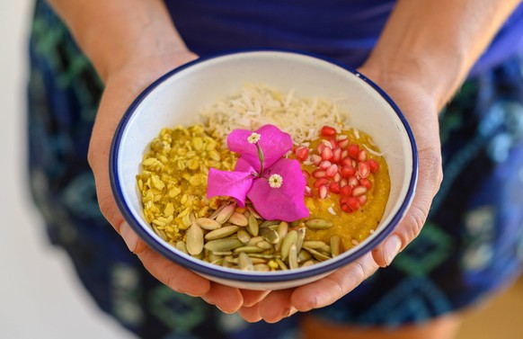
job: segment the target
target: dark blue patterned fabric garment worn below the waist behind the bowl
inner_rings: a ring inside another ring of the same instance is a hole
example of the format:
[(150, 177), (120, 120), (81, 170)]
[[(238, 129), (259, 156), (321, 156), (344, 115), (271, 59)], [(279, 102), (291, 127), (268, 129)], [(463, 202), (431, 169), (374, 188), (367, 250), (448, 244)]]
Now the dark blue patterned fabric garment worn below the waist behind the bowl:
[[(87, 147), (102, 83), (41, 1), (31, 30), (29, 174), (53, 244), (100, 308), (143, 338), (294, 338), (299, 315), (247, 324), (146, 272), (103, 219)], [(513, 281), (523, 258), (523, 62), (469, 79), (441, 113), (444, 181), (421, 235), (394, 263), (330, 307), (329, 321), (421, 322)]]

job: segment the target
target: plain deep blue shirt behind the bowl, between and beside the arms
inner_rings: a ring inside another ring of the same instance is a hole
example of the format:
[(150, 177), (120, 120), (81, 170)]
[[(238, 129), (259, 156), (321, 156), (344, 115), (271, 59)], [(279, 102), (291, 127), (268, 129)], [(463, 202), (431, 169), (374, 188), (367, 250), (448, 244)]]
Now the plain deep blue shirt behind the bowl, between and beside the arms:
[[(227, 49), (301, 49), (359, 67), (394, 0), (165, 0), (187, 46), (204, 56)], [(472, 73), (523, 51), (523, 4)]]

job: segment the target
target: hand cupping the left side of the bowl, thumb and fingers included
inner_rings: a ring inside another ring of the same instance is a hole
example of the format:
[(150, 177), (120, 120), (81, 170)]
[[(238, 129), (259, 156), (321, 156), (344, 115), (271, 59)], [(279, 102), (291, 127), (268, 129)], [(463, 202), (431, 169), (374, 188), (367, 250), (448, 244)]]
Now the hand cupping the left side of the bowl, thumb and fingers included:
[(105, 89), (89, 147), (89, 164), (93, 169), (102, 214), (120, 233), (129, 250), (137, 254), (146, 270), (173, 290), (201, 297), (225, 312), (234, 312), (244, 299), (257, 299), (260, 293), (245, 292), (243, 296), (238, 289), (210, 282), (157, 254), (138, 238), (123, 219), (114, 201), (109, 180), (111, 140), (123, 113), (137, 95), (158, 76), (194, 58), (197, 56), (187, 49), (165, 55), (137, 56), (106, 73)]

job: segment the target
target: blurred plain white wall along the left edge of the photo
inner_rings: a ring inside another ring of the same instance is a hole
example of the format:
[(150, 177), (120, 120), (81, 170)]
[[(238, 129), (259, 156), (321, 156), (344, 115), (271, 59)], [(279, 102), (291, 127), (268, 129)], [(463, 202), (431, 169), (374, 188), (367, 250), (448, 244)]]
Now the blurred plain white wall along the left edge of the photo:
[(31, 0), (0, 0), (0, 338), (132, 338), (102, 314), (65, 254), (48, 244), (25, 173)]

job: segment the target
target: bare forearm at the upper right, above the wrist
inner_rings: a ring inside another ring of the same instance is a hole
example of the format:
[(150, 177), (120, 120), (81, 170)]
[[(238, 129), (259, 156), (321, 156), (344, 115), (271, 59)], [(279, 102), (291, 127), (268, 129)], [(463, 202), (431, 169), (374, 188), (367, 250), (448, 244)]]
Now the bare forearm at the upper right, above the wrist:
[(519, 0), (400, 0), (366, 67), (407, 78), (441, 109)]

